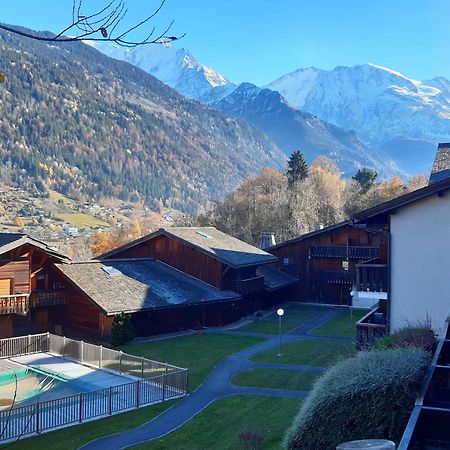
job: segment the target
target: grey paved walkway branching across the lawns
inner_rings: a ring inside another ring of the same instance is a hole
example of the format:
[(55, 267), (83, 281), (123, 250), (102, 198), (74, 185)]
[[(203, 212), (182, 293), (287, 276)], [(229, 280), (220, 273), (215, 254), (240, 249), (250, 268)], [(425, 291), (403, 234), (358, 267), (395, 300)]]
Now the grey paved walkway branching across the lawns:
[[(317, 316), (313, 317), (312, 319), (303, 321), (299, 327), (293, 329), (290, 333), (283, 335), (283, 344), (308, 339), (339, 339), (342, 341), (343, 338), (322, 338), (311, 336), (309, 334), (318, 326), (336, 317), (338, 314), (340, 314), (341, 311), (342, 310), (338, 308), (324, 309), (323, 313), (319, 312)], [(215, 330), (207, 331), (207, 333), (217, 332), (218, 331)], [(291, 369), (299, 371), (318, 372), (323, 372), (326, 370), (326, 368), (321, 367), (295, 364), (266, 364), (249, 360), (251, 356), (257, 353), (276, 348), (279, 345), (278, 335), (243, 333), (238, 331), (220, 331), (220, 333), (239, 336), (263, 336), (267, 338), (267, 340), (226, 357), (218, 366), (216, 366), (212, 370), (212, 372), (206, 378), (205, 382), (192, 394), (190, 394), (184, 400), (169, 408), (150, 422), (123, 433), (99, 438), (81, 448), (89, 450), (116, 450), (160, 438), (184, 425), (215, 400), (230, 395), (255, 394), (269, 395), (274, 397), (305, 398), (309, 394), (309, 392), (292, 391), (286, 389), (265, 389), (235, 386), (231, 383), (231, 379), (238, 372), (255, 368), (275, 368), (285, 370)]]

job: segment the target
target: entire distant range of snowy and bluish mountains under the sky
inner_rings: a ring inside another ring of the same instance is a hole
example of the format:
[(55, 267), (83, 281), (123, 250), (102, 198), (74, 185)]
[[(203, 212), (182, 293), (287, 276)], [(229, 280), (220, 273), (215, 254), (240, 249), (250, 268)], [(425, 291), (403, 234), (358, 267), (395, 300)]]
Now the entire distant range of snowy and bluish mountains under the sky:
[[(251, 121), (286, 154), (300, 147), (308, 159), (334, 155), (344, 172), (352, 161), (384, 175), (427, 172), (436, 144), (450, 140), (450, 81), (444, 77), (417, 81), (374, 64), (312, 67), (269, 83), (256, 98), (255, 88), (252, 96), (245, 93), (248, 83), (240, 88), (186, 49), (145, 47), (121, 55), (101, 50), (137, 64), (189, 98)], [(315, 132), (307, 133), (313, 122)]]

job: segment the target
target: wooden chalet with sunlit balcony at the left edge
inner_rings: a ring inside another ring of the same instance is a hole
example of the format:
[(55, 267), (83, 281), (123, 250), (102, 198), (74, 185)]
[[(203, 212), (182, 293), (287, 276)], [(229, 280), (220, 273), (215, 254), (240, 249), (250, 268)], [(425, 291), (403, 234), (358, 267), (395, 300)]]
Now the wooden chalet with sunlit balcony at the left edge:
[(61, 330), (67, 298), (53, 264), (65, 261), (27, 235), (0, 233), (0, 338)]

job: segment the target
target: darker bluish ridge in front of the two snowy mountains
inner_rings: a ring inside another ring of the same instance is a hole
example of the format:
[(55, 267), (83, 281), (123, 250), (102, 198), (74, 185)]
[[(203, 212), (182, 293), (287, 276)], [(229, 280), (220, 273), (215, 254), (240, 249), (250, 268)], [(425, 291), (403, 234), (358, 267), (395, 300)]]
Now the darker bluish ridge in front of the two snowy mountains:
[(253, 123), (286, 155), (296, 149), (302, 150), (307, 161), (325, 155), (348, 176), (363, 166), (384, 176), (402, 174), (391, 158), (363, 143), (354, 131), (345, 131), (294, 108), (276, 91), (242, 83), (212, 106)]

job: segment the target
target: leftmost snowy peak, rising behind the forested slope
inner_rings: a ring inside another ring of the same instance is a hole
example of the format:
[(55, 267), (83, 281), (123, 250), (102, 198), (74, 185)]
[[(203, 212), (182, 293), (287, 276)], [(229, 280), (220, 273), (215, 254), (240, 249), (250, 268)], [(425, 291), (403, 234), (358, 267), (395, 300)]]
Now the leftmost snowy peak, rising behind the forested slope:
[(171, 44), (134, 48), (96, 44), (102, 53), (139, 67), (185, 97), (209, 103), (229, 94), (236, 85), (210, 67), (200, 64), (185, 48)]

